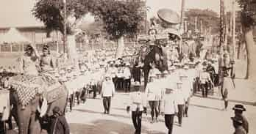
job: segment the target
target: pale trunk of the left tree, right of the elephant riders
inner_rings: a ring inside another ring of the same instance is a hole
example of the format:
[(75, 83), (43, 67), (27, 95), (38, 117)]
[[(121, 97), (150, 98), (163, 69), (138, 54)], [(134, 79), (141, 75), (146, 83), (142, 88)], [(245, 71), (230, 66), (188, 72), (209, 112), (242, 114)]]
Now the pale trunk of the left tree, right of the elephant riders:
[(76, 40), (75, 35), (68, 35), (67, 36), (67, 54), (68, 60), (71, 61), (71, 64), (74, 64), (74, 67), (78, 69), (78, 56), (77, 56), (77, 47), (76, 47)]

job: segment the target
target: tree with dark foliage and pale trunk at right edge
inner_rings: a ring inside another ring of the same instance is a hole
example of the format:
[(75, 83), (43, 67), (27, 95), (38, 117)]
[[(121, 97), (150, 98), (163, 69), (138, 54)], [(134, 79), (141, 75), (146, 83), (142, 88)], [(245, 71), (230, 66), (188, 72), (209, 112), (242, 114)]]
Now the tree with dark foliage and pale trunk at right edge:
[(243, 34), (246, 41), (247, 51), (247, 72), (246, 78), (256, 81), (256, 45), (253, 39), (252, 31), (256, 22), (256, 1), (255, 0), (237, 0), (241, 7), (241, 23)]

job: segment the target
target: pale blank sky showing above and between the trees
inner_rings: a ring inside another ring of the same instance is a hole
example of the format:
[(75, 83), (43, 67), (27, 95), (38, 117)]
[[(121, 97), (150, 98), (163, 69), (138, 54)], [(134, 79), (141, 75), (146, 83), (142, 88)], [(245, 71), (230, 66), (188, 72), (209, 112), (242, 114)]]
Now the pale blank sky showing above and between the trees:
[[(36, 0), (0, 0), (0, 27), (17, 26), (43, 26), (40, 21), (35, 21), (31, 10)], [(181, 10), (182, 0), (146, 0), (146, 5), (150, 7), (148, 18), (157, 16), (157, 10), (169, 8), (176, 12)], [(231, 8), (232, 0), (224, 0), (227, 10)], [(210, 9), (219, 12), (219, 0), (185, 0), (185, 9), (199, 8)], [(87, 23), (93, 21), (93, 17), (87, 15)]]

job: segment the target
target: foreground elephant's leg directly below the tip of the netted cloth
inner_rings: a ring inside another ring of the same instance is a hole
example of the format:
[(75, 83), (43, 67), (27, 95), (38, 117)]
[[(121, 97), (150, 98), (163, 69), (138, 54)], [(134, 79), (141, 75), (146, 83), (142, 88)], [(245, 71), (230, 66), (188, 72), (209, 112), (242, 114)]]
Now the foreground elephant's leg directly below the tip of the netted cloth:
[(22, 109), (21, 105), (18, 105), (18, 134), (28, 134), (29, 133), (29, 121), (31, 116), (30, 105), (27, 105), (25, 109)]

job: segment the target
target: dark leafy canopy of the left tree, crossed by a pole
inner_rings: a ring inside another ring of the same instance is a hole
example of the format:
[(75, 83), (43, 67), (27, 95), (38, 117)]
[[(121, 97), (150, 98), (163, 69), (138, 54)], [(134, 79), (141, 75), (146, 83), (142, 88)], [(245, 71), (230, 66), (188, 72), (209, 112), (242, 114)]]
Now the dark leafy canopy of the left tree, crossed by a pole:
[[(71, 18), (67, 24), (67, 33), (72, 34), (71, 26), (79, 23), (89, 12), (93, 0), (66, 0), (67, 17)], [(49, 31), (64, 31), (64, 3), (63, 0), (38, 0), (32, 10), (35, 18), (46, 25)]]

